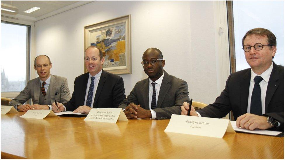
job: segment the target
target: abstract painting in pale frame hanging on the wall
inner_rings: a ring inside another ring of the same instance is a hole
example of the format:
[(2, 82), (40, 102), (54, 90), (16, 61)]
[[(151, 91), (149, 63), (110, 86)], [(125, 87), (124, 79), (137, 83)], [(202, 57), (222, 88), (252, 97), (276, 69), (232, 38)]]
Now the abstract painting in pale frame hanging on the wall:
[[(131, 74), (131, 15), (84, 27), (84, 51), (90, 45), (103, 52), (103, 69), (113, 74)], [(87, 72), (84, 66), (85, 73)]]

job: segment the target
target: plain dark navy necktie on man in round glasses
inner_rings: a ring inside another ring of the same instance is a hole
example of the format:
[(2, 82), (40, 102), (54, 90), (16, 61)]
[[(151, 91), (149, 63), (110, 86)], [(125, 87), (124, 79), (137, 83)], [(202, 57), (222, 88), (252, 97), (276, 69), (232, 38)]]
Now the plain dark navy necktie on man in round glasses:
[(255, 115), (262, 115), (261, 111), (261, 91), (259, 82), (263, 80), (262, 77), (256, 76), (254, 78), (254, 87), (251, 94), (250, 113)]

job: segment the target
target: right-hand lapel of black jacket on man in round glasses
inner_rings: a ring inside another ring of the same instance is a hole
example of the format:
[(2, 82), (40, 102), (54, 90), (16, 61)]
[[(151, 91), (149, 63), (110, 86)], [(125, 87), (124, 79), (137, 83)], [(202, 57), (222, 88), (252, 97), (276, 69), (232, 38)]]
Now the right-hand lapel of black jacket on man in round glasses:
[(265, 113), (267, 113), (268, 104), (275, 90), (277, 89), (279, 85), (278, 79), (279, 79), (279, 71), (278, 71), (277, 65), (273, 62), (273, 69), (270, 74), (270, 78), (269, 78), (267, 90), (266, 90), (266, 96), (265, 96)]

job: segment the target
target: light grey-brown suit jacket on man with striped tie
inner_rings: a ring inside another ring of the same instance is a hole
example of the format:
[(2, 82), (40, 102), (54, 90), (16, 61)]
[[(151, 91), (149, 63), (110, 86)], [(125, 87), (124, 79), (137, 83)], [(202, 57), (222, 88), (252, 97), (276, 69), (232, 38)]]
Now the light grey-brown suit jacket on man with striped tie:
[[(67, 84), (67, 79), (57, 75), (51, 75), (49, 85), (49, 93), (51, 104), (56, 100), (59, 103), (67, 103), (70, 99), (70, 91)], [(58, 94), (55, 95), (55, 92)], [(32, 98), (33, 104), (39, 104), (39, 96), (41, 94), (41, 84), (39, 77), (29, 80), (27, 86), (16, 96), (10, 103), (10, 106), (24, 104), (27, 100)], [(47, 105), (47, 104), (40, 104)]]

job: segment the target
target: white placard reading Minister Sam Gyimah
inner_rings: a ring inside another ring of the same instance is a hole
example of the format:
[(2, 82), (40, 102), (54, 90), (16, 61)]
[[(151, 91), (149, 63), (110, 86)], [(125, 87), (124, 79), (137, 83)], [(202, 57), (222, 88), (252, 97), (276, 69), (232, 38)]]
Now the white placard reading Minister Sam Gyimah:
[(92, 108), (84, 121), (116, 123), (128, 121), (122, 108)]

